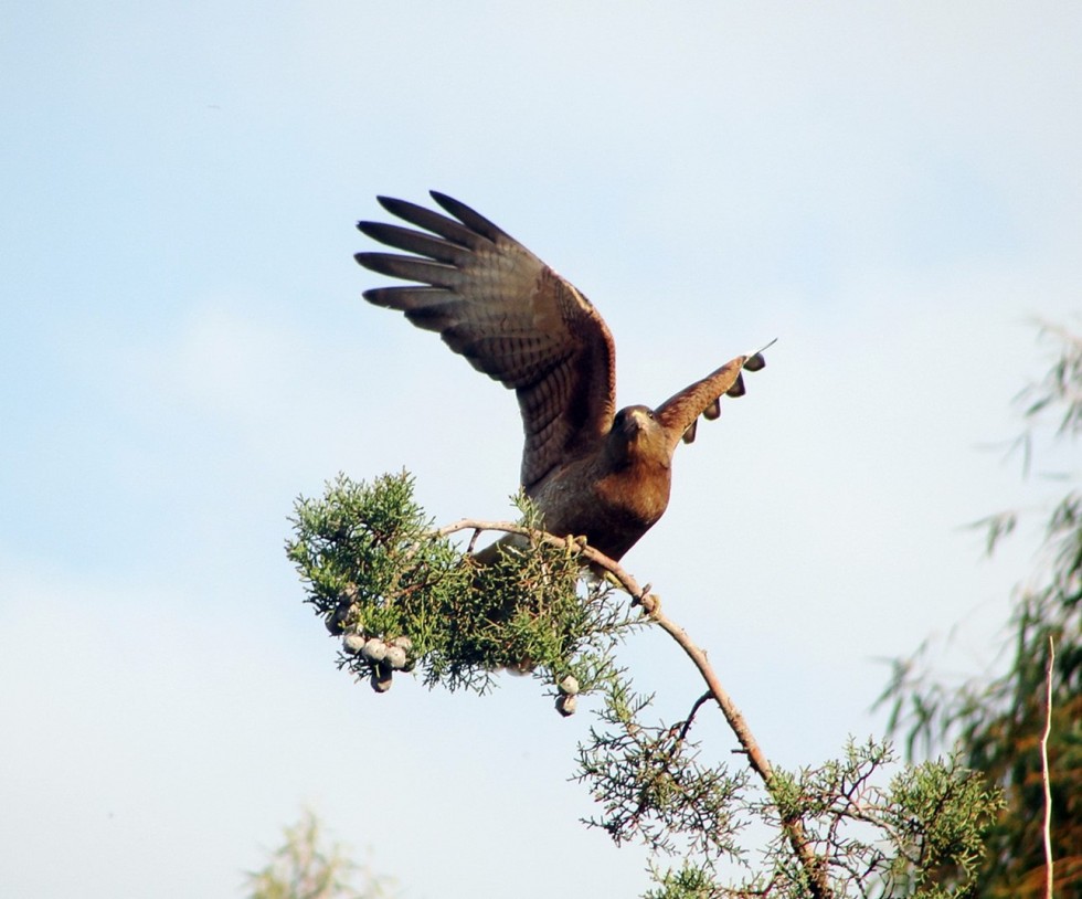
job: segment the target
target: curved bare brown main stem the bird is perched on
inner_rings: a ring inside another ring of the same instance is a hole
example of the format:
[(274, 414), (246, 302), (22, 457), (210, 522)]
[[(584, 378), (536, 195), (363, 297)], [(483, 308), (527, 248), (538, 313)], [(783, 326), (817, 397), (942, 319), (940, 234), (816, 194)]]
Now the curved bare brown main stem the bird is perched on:
[[(736, 708), (736, 704), (733, 702), (724, 687), (721, 686), (721, 681), (718, 679), (717, 673), (710, 665), (707, 654), (691, 642), (691, 638), (682, 627), (661, 612), (661, 602), (655, 594), (648, 593), (649, 586), (639, 586), (638, 582), (627, 571), (625, 571), (618, 562), (598, 552), (593, 547), (585, 543), (581, 538), (556, 537), (555, 535), (533, 530), (521, 525), (515, 525), (510, 521), (478, 521), (469, 518), (464, 518), (459, 521), (455, 521), (452, 525), (439, 528), (434, 532), (434, 535), (446, 537), (463, 530), (492, 530), (501, 531), (503, 533), (517, 533), (522, 537), (529, 537), (533, 540), (540, 540), (549, 543), (550, 546), (574, 548), (582, 554), (583, 559), (608, 572), (632, 596), (633, 603), (640, 604), (643, 606), (644, 614), (654, 621), (659, 627), (661, 627), (662, 631), (669, 634), (669, 636), (677, 642), (680, 648), (687, 653), (692, 663), (694, 663), (696, 668), (699, 669), (699, 674), (710, 691), (710, 696), (714, 699), (714, 701), (717, 701), (718, 706), (721, 708), (722, 715), (729, 722), (729, 727), (732, 728), (733, 733), (736, 734), (736, 739), (740, 741), (744, 753), (747, 755), (747, 761), (751, 764), (752, 770), (762, 779), (763, 784), (766, 786), (767, 793), (770, 793), (771, 796), (775, 795), (774, 770), (771, 766), (766, 755), (763, 754), (762, 749), (760, 749), (759, 742), (755, 740), (751, 732), (751, 728), (749, 728), (747, 722), (744, 720), (744, 716), (740, 712), (740, 709)], [(702, 700), (696, 704), (694, 710), (698, 710), (701, 701)], [(693, 717), (694, 710), (692, 711), (692, 715), (689, 716), (689, 725), (690, 719)], [(776, 800), (775, 804), (777, 804)], [(825, 866), (823, 865), (821, 859), (816, 857), (815, 853), (811, 850), (811, 845), (808, 840), (807, 833), (804, 829), (804, 822), (802, 821), (800, 816), (794, 815), (791, 812), (781, 808), (781, 806), (778, 806), (778, 813), (782, 818), (782, 827), (786, 837), (788, 838), (789, 845), (793, 847), (793, 852), (796, 854), (796, 857), (800, 863), (800, 867), (807, 875), (811, 896), (814, 899), (831, 899), (834, 893), (830, 890), (830, 884), (827, 880)]]

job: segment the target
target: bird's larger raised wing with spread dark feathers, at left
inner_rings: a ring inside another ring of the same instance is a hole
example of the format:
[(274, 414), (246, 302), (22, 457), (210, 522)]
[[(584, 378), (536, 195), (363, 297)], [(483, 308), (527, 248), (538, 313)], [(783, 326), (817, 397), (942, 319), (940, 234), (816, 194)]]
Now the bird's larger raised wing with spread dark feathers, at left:
[(364, 298), (437, 331), (474, 368), (515, 390), (526, 432), (522, 485), (530, 493), (607, 433), (613, 338), (590, 300), (522, 244), (469, 207), (431, 193), (454, 219), (380, 197), (388, 212), (425, 231), (358, 223), (380, 243), (415, 254), (358, 253), (361, 265), (418, 282), (365, 290)]

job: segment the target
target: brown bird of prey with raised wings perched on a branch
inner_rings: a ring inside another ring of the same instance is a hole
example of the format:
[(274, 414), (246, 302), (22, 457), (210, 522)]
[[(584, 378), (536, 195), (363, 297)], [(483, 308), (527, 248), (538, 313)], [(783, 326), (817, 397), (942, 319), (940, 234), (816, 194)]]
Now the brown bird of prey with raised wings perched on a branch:
[(618, 561), (661, 517), (672, 454), (700, 415), (717, 417), (722, 394), (743, 392), (738, 357), (656, 409), (616, 410), (616, 348), (575, 287), (469, 207), (432, 191), (450, 216), (390, 197), (380, 204), (423, 229), (359, 222), (369, 237), (413, 255), (358, 253), (373, 272), (415, 282), (364, 298), (438, 332), (474, 368), (515, 390), (522, 413), (522, 488), (544, 529), (585, 536)]

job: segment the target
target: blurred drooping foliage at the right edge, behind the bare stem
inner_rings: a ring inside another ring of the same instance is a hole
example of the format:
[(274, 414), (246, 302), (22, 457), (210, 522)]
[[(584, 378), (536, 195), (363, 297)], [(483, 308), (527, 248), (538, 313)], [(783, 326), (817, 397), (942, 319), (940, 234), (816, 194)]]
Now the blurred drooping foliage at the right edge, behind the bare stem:
[[(1082, 336), (1041, 324), (1039, 337), (1051, 340), (1051, 361), (1016, 398), (1023, 430), (1010, 443), (1022, 452), (1023, 475), (1038, 456), (1082, 436)], [(904, 738), (910, 758), (958, 747), (966, 764), (1004, 791), (976, 878), (991, 899), (1082, 888), (1082, 490), (1078, 472), (1054, 479), (1068, 486), (1039, 507), (1038, 568), (1015, 592), (1004, 670), (948, 680), (933, 666), (940, 647), (925, 643), (893, 662), (879, 700), (889, 704), (889, 730)], [(976, 523), (989, 553), (1020, 518), (1007, 510)]]

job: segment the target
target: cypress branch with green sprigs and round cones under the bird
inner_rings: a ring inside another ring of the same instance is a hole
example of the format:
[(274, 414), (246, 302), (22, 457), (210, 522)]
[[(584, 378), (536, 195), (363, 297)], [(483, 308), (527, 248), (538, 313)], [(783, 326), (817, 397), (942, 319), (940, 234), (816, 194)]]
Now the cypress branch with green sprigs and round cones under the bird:
[[(380, 692), (399, 670), (415, 669), (428, 687), (478, 692), (495, 686), (500, 669), (532, 671), (564, 715), (580, 695), (600, 694), (600, 726), (579, 748), (576, 779), (602, 808), (586, 824), (617, 844), (635, 838), (656, 856), (683, 858), (679, 870), (655, 870), (659, 891), (650, 899), (841, 899), (902, 888), (931, 898), (947, 895), (931, 886), (936, 866), (973, 867), (982, 826), (997, 807), (973, 772), (929, 762), (883, 784), (894, 758), (873, 742), (849, 745), (841, 760), (818, 768), (778, 770), (707, 654), (649, 585), (581, 538), (544, 532), (537, 510), (517, 501), (521, 523), (435, 527), (404, 473), (372, 485), (339, 476), (322, 499), (298, 500), (287, 552), (307, 601), (342, 639), (339, 665)], [(485, 532), (516, 541), (486, 551), (480, 564), (471, 550)], [(452, 538), (465, 533), (463, 552)], [(583, 569), (592, 577), (582, 578)], [(675, 723), (644, 722), (653, 697), (637, 695), (615, 660), (619, 643), (644, 626), (667, 633), (706, 686)], [(735, 734), (745, 770), (702, 760), (691, 731), (710, 705)], [(776, 834), (757, 869), (741, 840), (753, 821)], [(721, 886), (722, 860), (746, 876)]]

